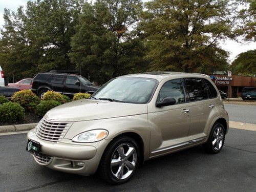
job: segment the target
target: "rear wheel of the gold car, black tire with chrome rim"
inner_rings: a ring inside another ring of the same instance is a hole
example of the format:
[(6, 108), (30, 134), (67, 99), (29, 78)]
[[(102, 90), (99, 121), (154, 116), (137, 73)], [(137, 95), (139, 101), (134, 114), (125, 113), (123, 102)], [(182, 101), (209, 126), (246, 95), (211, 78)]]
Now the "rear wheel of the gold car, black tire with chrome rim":
[(215, 123), (211, 129), (208, 141), (203, 144), (207, 153), (217, 154), (221, 151), (225, 142), (225, 129), (223, 124)]

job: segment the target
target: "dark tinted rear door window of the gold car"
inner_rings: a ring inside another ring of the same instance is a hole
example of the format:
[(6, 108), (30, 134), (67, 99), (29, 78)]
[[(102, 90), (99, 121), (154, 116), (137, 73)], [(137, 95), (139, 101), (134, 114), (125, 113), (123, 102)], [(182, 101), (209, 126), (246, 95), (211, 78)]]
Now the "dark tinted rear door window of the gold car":
[(201, 78), (185, 78), (189, 101), (208, 99), (207, 87)]

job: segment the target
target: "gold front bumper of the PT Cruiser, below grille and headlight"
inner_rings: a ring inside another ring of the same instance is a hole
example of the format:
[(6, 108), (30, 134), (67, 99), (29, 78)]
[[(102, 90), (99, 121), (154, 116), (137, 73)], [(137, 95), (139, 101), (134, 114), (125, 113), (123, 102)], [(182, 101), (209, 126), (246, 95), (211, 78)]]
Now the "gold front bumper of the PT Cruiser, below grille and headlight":
[[(51, 142), (38, 138), (31, 130), (27, 140), (39, 142), (41, 156), (33, 155), (35, 161), (51, 169), (79, 175), (92, 175), (96, 172), (105, 147), (111, 141), (103, 139), (95, 143), (74, 143), (70, 139)], [(47, 161), (42, 162), (40, 160)]]

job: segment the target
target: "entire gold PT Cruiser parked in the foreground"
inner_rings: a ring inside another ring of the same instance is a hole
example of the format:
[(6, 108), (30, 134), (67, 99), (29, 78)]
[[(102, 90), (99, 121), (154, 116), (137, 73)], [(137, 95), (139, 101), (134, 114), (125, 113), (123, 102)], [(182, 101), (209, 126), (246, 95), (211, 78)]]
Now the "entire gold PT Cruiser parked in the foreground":
[(203, 144), (221, 151), (228, 114), (207, 75), (148, 72), (105, 83), (90, 99), (50, 110), (27, 135), (34, 160), (118, 184), (144, 161)]

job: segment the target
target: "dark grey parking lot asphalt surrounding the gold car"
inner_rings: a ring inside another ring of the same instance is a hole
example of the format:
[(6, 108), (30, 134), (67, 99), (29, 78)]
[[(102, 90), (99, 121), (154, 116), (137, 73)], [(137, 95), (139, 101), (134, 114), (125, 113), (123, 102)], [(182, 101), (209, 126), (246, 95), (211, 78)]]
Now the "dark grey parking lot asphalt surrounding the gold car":
[(217, 155), (197, 146), (146, 161), (131, 181), (110, 185), (36, 164), (26, 134), (0, 136), (0, 191), (255, 191), (255, 138), (256, 131), (230, 129)]

